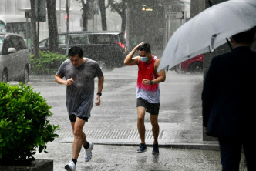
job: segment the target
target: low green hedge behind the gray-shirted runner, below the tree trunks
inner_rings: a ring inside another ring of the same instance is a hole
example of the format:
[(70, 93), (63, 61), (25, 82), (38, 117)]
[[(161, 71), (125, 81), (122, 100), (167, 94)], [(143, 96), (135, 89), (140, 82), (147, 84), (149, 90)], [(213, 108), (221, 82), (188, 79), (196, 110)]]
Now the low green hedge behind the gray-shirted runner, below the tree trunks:
[(32, 75), (56, 74), (59, 66), (67, 59), (66, 55), (59, 55), (54, 52), (40, 51), (40, 58), (35, 59), (35, 55), (30, 56)]

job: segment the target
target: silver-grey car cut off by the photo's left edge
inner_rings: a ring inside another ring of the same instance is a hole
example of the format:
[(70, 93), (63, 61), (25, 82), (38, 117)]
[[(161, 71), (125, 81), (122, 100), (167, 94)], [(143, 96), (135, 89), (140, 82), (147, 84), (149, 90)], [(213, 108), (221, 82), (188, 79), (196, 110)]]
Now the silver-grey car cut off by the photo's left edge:
[(0, 79), (29, 82), (30, 53), (21, 35), (0, 33)]

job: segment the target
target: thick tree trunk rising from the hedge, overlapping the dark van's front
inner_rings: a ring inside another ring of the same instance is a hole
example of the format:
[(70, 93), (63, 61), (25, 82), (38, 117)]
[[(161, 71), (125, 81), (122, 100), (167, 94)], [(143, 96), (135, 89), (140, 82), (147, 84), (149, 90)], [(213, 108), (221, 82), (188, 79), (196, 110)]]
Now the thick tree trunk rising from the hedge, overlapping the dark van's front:
[(49, 50), (59, 52), (59, 38), (56, 18), (56, 1), (47, 0)]

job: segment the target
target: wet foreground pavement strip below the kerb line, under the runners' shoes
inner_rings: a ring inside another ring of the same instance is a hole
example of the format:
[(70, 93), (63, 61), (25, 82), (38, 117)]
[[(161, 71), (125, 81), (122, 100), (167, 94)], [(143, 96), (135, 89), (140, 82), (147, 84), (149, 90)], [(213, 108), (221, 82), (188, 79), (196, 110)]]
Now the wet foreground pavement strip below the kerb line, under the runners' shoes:
[[(51, 142), (49, 153), (39, 153), (36, 159), (53, 159), (54, 171), (64, 170), (72, 157), (71, 143)], [(136, 153), (137, 146), (95, 145), (93, 158), (85, 163), (83, 150), (76, 163), (76, 171), (84, 170), (173, 170), (173, 171), (206, 171), (221, 170), (220, 155), (217, 151), (198, 149), (160, 148), (159, 155), (147, 152)], [(53, 153), (54, 152), (54, 153)]]

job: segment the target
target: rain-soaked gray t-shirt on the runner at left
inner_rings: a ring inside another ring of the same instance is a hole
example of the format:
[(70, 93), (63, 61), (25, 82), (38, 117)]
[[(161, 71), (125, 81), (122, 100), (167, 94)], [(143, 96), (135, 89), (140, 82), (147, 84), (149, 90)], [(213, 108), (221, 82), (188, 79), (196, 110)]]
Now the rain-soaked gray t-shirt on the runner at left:
[(66, 107), (69, 116), (73, 114), (89, 118), (93, 107), (94, 78), (103, 76), (99, 64), (86, 58), (86, 61), (76, 68), (70, 59), (67, 59), (60, 65), (57, 75), (74, 80), (71, 86), (66, 87)]

